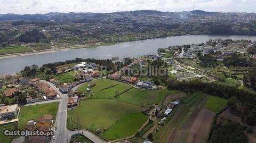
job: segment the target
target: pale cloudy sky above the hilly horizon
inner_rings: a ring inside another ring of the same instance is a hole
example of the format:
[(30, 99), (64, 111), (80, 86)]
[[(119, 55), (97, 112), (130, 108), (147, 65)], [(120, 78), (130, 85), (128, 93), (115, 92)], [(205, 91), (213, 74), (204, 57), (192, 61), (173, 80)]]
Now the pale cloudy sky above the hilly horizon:
[(256, 0), (0, 0), (0, 13), (99, 12), (158, 10), (254, 12)]

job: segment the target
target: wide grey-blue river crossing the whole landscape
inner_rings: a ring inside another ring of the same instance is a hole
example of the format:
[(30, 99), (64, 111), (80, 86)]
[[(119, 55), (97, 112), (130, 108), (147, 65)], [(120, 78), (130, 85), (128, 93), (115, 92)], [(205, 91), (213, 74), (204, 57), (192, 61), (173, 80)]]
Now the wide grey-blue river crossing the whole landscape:
[(256, 40), (256, 36), (186, 35), (130, 41), (108, 46), (71, 49), (68, 51), (59, 51), (39, 55), (3, 58), (0, 60), (0, 74), (17, 73), (21, 71), (26, 65), (36, 64), (38, 66), (42, 66), (45, 63), (73, 60), (76, 57), (98, 59), (106, 59), (114, 56), (118, 56), (120, 58), (138, 57), (141, 55), (156, 53), (158, 48), (164, 48), (171, 45), (199, 44), (204, 43), (209, 39), (217, 38), (233, 40), (246, 39), (252, 41)]

